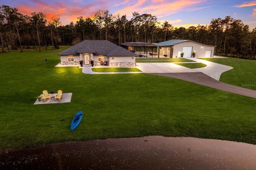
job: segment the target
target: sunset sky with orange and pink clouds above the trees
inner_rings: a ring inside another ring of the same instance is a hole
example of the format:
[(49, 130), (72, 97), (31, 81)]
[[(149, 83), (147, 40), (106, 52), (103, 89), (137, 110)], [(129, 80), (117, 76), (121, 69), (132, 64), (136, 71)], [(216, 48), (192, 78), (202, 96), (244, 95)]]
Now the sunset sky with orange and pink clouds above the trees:
[(256, 27), (256, 1), (238, 0), (0, 0), (0, 5), (17, 7), (23, 14), (43, 12), (47, 18), (59, 16), (63, 24), (76, 21), (78, 16), (91, 17), (97, 10), (109, 10), (113, 14), (132, 12), (151, 13), (158, 21), (172, 25), (209, 24), (213, 18), (231, 15), (241, 19), (253, 29)]

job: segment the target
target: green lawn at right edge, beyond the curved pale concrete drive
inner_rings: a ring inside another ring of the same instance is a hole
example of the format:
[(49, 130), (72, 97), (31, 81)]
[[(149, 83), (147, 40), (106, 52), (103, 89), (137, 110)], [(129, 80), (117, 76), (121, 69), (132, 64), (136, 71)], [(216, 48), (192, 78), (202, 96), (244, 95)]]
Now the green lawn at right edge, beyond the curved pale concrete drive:
[(201, 58), (234, 69), (221, 74), (220, 81), (256, 90), (256, 61), (241, 58)]

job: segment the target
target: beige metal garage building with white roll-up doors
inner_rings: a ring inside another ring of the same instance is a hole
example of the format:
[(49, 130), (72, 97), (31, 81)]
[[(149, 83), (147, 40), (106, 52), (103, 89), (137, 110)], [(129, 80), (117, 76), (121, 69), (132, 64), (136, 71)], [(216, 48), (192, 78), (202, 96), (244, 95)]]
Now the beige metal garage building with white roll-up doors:
[(154, 45), (158, 46), (158, 57), (180, 57), (181, 52), (185, 58), (191, 57), (193, 52), (196, 53), (195, 57), (213, 57), (215, 49), (215, 46), (182, 39), (171, 39)]

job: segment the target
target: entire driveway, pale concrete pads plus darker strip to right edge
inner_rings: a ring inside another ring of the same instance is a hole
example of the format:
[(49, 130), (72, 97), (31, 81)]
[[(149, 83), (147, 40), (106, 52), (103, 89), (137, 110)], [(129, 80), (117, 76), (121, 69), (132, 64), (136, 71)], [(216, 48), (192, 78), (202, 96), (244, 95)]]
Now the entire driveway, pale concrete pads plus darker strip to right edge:
[[(223, 72), (233, 69), (231, 66), (205, 61), (199, 58), (189, 58), (207, 66), (199, 69), (189, 69), (175, 63), (138, 63), (138, 69), (144, 73), (162, 75), (165, 77), (177, 78), (218, 90), (231, 92), (238, 95), (256, 98), (256, 91), (231, 84), (220, 82)], [(223, 59), (225, 60), (225, 59)]]

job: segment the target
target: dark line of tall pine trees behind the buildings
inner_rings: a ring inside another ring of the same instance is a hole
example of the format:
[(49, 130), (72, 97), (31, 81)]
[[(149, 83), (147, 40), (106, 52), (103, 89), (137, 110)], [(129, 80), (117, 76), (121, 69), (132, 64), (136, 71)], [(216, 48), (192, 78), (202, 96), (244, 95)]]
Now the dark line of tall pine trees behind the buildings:
[(10, 50), (59, 49), (85, 39), (109, 40), (117, 45), (126, 41), (159, 43), (170, 39), (190, 39), (217, 46), (215, 54), (256, 59), (256, 28), (231, 16), (212, 19), (209, 25), (174, 28), (169, 22), (159, 23), (151, 14), (133, 12), (113, 15), (99, 10), (93, 18), (79, 16), (77, 21), (63, 25), (60, 18), (46, 19), (42, 12), (24, 15), (17, 8), (0, 6), (0, 46), (2, 53)]

